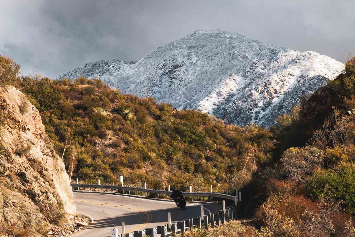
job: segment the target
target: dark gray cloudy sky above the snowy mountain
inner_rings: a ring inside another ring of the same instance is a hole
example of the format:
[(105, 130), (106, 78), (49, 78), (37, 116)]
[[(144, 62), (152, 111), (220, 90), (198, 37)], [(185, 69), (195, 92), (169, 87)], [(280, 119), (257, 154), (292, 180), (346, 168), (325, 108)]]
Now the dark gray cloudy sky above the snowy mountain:
[(354, 9), (354, 0), (0, 0), (0, 54), (23, 74), (56, 77), (209, 28), (344, 61), (355, 51)]

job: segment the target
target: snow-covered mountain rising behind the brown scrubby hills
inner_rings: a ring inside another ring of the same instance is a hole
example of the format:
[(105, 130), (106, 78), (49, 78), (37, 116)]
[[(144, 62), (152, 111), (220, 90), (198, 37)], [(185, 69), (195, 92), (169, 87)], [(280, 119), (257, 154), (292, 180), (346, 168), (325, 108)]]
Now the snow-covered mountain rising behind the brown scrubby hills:
[(316, 52), (276, 47), (237, 33), (198, 30), (139, 61), (87, 63), (59, 78), (100, 77), (123, 93), (198, 109), (229, 123), (273, 125), (344, 65)]

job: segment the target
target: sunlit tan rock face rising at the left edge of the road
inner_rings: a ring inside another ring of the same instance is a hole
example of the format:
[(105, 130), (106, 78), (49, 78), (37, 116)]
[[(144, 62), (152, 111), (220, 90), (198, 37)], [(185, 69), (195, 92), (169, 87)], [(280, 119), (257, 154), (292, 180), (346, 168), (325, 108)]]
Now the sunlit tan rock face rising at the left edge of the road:
[(34, 229), (75, 215), (69, 177), (38, 110), (14, 87), (0, 87), (0, 107), (0, 221)]

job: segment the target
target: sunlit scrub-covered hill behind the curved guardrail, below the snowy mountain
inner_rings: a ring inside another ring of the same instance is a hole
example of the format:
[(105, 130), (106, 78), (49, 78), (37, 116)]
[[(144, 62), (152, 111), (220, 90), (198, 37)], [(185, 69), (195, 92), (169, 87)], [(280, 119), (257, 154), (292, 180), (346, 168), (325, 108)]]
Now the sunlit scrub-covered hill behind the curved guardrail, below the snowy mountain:
[(56, 151), (66, 149), (67, 162), (77, 158), (73, 173), (82, 182), (118, 184), (123, 175), (140, 187), (147, 167), (148, 188), (232, 192), (271, 157), (267, 130), (122, 95), (100, 80), (23, 77), (19, 88), (37, 105)]

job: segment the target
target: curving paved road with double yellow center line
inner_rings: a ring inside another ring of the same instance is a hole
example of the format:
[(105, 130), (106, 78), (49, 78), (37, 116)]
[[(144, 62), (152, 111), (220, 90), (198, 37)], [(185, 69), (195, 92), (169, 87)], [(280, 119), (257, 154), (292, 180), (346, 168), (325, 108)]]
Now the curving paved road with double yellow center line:
[(121, 222), (125, 222), (126, 233), (144, 230), (158, 225), (165, 225), (168, 212), (171, 221), (182, 221), (222, 209), (222, 204), (188, 202), (186, 209), (176, 208), (174, 201), (156, 200), (128, 195), (108, 193), (75, 192), (75, 204), (78, 212), (93, 217), (91, 225), (72, 236), (106, 237), (111, 235), (111, 228), (118, 228), (121, 233)]

